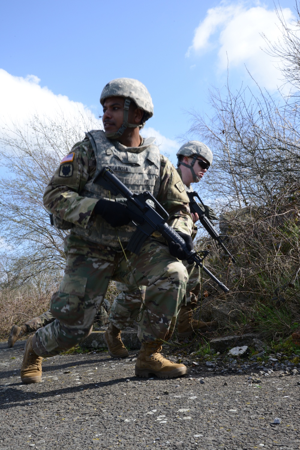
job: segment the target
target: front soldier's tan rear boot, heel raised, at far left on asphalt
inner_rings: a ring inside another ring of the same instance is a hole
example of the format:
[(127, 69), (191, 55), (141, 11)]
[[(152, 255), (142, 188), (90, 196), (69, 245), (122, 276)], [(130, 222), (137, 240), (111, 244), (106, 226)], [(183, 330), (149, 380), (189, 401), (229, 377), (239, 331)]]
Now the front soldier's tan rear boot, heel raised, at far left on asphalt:
[(21, 380), (24, 384), (40, 383), (42, 381), (42, 357), (37, 356), (32, 350), (32, 338), (30, 336), (25, 345), (21, 366)]

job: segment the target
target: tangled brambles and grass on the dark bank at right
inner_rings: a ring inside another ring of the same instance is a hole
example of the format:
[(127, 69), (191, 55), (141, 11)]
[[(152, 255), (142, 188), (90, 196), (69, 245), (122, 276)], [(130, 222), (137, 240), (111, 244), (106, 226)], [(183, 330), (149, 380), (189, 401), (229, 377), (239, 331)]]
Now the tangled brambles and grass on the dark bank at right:
[[(263, 206), (221, 216), (221, 231), (229, 234), (227, 245), (238, 255), (236, 264), (212, 239), (202, 237), (197, 243), (202, 249), (210, 247), (205, 265), (230, 288), (230, 293), (220, 293), (203, 277), (208, 296), (202, 299), (202, 320), (218, 319), (218, 335), (262, 333), (271, 347), (272, 341), (285, 342), (300, 326), (300, 184), (289, 184), (274, 197)], [(293, 342), (291, 347), (295, 352)]]

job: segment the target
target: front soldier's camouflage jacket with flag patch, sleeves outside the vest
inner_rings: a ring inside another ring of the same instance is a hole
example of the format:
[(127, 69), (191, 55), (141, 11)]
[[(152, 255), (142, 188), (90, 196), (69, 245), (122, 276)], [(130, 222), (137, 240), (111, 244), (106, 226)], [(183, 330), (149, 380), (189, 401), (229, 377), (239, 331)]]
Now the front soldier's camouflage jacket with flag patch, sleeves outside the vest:
[[(115, 142), (110, 141), (116, 147)], [(141, 138), (141, 144), (143, 140)], [(124, 146), (123, 146), (124, 147)], [(74, 155), (73, 155), (74, 153)], [(71, 156), (69, 156), (71, 155)], [(80, 238), (76, 232), (78, 225), (83, 229), (93, 229), (98, 226), (96, 223), (99, 216), (93, 214), (93, 209), (101, 196), (87, 197), (82, 195), (85, 184), (91, 181), (95, 175), (97, 162), (93, 146), (88, 138), (74, 145), (67, 157), (63, 158), (54, 176), (50, 180), (44, 193), (44, 206), (58, 216), (61, 220), (71, 222), (71, 237)], [(69, 161), (72, 158), (72, 164)], [(71, 166), (71, 171), (69, 167)], [(119, 174), (116, 172), (116, 176)], [(159, 186), (154, 196), (161, 205), (168, 211), (168, 224), (177, 231), (191, 234), (193, 222), (188, 206), (189, 199), (185, 193), (184, 185), (174, 166), (168, 158), (160, 155)], [(103, 219), (102, 219), (103, 220)], [(133, 224), (112, 228), (115, 238), (110, 242), (84, 238), (103, 247), (113, 247), (115, 251), (120, 251), (121, 246), (118, 241), (118, 234), (122, 235), (122, 230), (127, 226), (130, 232), (134, 232)], [(129, 237), (130, 234), (129, 233)], [(75, 235), (75, 236), (74, 236)], [(82, 237), (81, 237), (82, 238)], [(124, 239), (122, 243), (128, 242)]]

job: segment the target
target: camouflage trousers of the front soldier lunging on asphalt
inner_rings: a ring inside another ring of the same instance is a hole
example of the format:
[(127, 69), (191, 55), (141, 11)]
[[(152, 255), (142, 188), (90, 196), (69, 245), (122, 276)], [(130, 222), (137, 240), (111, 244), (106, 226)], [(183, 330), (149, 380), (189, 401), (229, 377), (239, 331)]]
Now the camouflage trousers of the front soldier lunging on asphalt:
[(57, 355), (88, 335), (110, 279), (146, 286), (138, 329), (141, 342), (161, 342), (172, 336), (188, 274), (168, 247), (148, 239), (139, 255), (99, 251), (96, 256), (92, 243), (77, 248), (70, 242), (66, 244), (65, 275), (50, 302), (56, 320), (37, 330), (32, 341), (37, 355)]

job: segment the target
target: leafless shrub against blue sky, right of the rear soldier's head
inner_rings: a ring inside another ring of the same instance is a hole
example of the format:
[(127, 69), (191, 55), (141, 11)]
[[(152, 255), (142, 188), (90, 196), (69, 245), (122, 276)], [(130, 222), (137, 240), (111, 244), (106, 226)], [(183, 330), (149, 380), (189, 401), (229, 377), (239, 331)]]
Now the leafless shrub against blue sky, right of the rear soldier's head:
[(299, 106), (249, 88), (211, 92), (212, 117), (191, 112), (188, 135), (211, 146), (212, 169), (201, 191), (219, 210), (263, 205), (277, 189), (300, 179)]

